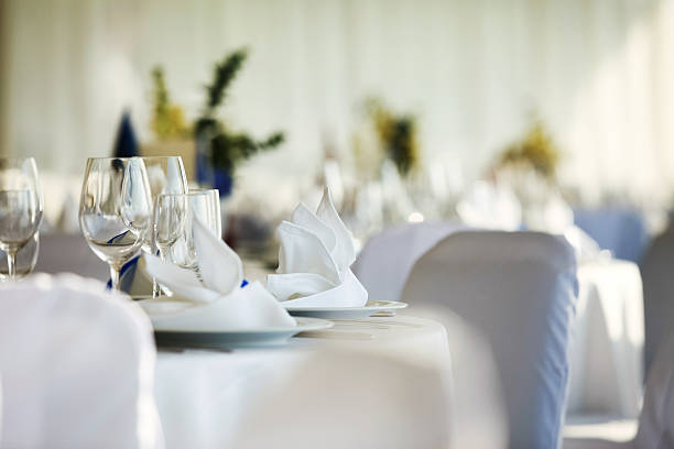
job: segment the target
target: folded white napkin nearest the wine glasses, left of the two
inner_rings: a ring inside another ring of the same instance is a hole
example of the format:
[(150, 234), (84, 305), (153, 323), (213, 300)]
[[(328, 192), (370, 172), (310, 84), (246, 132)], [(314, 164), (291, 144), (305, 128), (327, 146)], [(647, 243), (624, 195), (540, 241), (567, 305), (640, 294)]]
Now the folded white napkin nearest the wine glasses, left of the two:
[(155, 329), (231, 331), (296, 325), (260, 283), (246, 285), (239, 255), (198, 220), (194, 243), (203, 281), (192, 270), (143, 255), (148, 273), (173, 292), (168, 299), (140, 302)]

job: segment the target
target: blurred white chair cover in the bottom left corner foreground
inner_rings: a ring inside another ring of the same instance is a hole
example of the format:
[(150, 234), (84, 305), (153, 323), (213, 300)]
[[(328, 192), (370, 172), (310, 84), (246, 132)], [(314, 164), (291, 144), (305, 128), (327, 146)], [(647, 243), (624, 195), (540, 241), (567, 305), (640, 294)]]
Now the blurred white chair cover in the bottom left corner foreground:
[(146, 317), (99, 282), (1, 285), (0, 447), (161, 447), (154, 358)]

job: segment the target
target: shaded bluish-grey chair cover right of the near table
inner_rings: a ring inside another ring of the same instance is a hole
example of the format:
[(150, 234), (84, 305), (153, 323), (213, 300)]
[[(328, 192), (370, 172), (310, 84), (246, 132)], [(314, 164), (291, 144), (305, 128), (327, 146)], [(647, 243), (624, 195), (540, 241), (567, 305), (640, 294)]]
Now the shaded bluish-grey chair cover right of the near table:
[(575, 255), (565, 240), (483, 231), (457, 232), (423, 255), (402, 300), (442, 304), (485, 333), (502, 382), (510, 447), (555, 448), (577, 294)]

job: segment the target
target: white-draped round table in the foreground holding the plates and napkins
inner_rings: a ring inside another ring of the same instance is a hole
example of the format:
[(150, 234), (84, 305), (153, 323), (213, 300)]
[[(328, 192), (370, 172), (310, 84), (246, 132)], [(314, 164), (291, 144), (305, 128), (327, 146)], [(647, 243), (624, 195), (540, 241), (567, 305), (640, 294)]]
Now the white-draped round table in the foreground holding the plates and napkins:
[(441, 369), (449, 360), (445, 328), (404, 315), (335, 320), (330, 329), (301, 333), (278, 348), (160, 348), (155, 398), (166, 447), (227, 447), (252, 404), (327, 348), (373, 351)]

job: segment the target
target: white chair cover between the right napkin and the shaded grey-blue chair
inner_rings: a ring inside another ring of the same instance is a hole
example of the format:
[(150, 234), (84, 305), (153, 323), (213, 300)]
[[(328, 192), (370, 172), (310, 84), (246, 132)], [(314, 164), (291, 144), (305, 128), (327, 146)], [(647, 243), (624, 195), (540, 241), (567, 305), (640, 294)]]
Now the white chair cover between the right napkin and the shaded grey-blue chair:
[(407, 223), (388, 229), (365, 245), (351, 271), (368, 291), (369, 300), (399, 300), (414, 263), (433, 245), (464, 225)]

